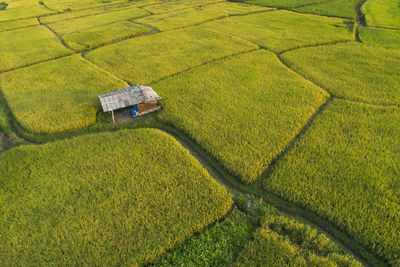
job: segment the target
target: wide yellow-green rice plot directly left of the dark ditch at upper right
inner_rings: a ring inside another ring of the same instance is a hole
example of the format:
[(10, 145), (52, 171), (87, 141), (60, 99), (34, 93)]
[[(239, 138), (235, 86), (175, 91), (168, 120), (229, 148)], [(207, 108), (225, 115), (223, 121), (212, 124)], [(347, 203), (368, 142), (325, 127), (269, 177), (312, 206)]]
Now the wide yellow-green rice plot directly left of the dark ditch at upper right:
[(343, 19), (285, 10), (235, 16), (200, 27), (238, 36), (275, 52), (353, 39)]

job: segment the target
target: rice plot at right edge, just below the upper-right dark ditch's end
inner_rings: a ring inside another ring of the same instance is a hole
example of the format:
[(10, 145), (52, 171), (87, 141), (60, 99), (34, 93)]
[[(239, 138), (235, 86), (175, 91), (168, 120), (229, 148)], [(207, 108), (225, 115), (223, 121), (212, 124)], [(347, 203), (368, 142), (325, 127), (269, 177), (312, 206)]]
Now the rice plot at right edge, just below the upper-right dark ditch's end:
[(400, 50), (352, 43), (294, 50), (282, 58), (334, 96), (377, 104), (400, 103)]

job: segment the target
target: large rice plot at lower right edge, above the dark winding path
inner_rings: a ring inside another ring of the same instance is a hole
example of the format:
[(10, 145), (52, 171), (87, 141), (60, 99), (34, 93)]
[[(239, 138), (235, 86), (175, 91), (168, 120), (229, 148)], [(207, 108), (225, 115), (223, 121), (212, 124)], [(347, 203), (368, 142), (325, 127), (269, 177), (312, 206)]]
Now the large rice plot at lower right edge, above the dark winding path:
[(400, 109), (333, 100), (264, 180), (392, 264), (400, 259)]

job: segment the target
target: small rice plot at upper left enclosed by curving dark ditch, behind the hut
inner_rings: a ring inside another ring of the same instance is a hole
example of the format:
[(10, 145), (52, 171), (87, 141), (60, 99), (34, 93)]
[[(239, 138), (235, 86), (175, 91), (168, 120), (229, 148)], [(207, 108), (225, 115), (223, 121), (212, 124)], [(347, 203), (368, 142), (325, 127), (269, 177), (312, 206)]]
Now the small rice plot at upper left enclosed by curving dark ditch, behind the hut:
[(151, 28), (130, 21), (116, 22), (80, 32), (63, 35), (64, 41), (75, 50), (98, 47), (117, 40), (148, 33)]

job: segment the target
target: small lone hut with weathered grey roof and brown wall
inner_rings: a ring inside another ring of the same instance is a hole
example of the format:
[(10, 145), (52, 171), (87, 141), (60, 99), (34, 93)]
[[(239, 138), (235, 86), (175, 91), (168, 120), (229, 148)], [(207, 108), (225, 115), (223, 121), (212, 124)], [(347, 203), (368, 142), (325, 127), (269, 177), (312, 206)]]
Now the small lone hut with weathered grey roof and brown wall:
[(131, 86), (107, 94), (99, 95), (100, 103), (104, 112), (111, 112), (113, 123), (114, 110), (125, 107), (136, 107), (135, 115), (141, 116), (161, 107), (157, 106), (157, 100), (161, 97), (148, 86)]

